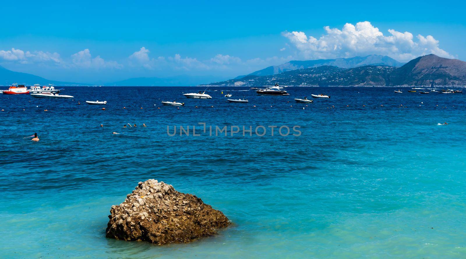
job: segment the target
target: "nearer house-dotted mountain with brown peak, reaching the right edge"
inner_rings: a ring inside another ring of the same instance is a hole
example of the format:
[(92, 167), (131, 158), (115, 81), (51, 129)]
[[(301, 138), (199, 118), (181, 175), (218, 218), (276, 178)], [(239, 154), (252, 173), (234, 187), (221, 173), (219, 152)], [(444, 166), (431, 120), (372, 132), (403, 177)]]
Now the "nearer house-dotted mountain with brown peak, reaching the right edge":
[(247, 75), (240, 79), (212, 83), (212, 86), (438, 86), (466, 85), (466, 62), (436, 55), (418, 57), (401, 67), (318, 66), (274, 75)]

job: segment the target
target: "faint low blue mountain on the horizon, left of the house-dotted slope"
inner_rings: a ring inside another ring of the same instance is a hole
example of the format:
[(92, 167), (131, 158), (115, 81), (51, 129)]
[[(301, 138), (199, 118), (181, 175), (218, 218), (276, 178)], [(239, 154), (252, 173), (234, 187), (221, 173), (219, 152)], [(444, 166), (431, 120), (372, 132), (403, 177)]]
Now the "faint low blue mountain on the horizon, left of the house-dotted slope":
[(122, 81), (106, 83), (106, 86), (197, 86), (206, 80), (212, 80), (211, 76), (180, 75), (166, 78), (137, 77)]

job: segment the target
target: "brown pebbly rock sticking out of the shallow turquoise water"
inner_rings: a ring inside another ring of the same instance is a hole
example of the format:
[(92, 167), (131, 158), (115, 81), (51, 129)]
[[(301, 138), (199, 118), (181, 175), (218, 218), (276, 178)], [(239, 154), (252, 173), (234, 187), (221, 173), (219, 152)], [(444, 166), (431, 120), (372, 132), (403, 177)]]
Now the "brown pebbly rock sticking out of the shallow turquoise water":
[(229, 224), (223, 213), (200, 198), (155, 179), (139, 182), (126, 197), (110, 209), (108, 238), (153, 244), (189, 242)]

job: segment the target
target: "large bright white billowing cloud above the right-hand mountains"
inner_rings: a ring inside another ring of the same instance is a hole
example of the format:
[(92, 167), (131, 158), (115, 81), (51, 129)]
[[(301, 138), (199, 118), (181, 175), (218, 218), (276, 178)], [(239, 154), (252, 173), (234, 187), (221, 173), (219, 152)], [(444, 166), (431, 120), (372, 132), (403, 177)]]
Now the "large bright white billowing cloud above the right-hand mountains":
[(418, 56), (436, 54), (445, 58), (454, 58), (439, 47), (439, 41), (431, 35), (418, 35), (414, 40), (409, 32), (388, 30), (384, 35), (369, 21), (355, 25), (347, 23), (343, 28), (324, 27), (326, 34), (316, 39), (303, 32), (283, 32), (304, 59), (348, 58), (361, 55), (387, 55), (399, 61), (408, 61)]

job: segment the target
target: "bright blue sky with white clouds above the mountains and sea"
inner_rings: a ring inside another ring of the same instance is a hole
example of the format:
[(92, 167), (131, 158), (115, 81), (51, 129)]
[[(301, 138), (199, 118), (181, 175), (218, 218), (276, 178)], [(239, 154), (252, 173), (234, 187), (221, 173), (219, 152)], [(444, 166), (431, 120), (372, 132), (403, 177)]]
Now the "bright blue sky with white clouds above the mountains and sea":
[[(461, 1), (5, 1), (0, 66), (50, 80), (220, 81), (289, 60), (466, 60)], [(208, 83), (208, 82), (206, 82)]]

